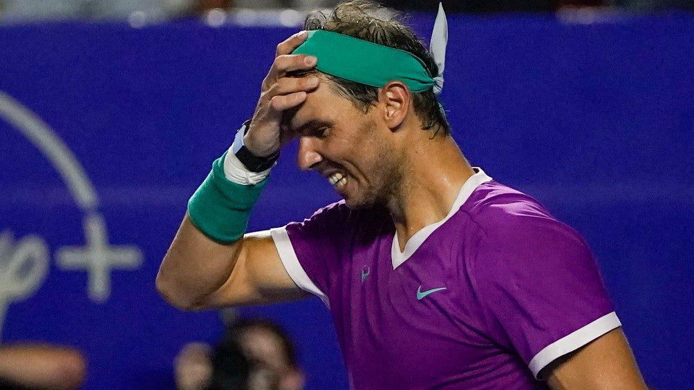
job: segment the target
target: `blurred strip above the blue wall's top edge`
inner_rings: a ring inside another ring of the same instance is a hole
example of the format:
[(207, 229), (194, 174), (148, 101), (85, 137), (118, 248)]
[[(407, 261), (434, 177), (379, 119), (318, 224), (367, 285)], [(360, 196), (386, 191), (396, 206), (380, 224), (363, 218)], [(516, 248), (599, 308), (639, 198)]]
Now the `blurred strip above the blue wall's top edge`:
[[(0, 0), (0, 21), (45, 19), (128, 19), (166, 21), (217, 12), (213, 19), (227, 21), (225, 13), (237, 14), (242, 24), (301, 24), (305, 12), (332, 8), (337, 0)], [(396, 10), (434, 12), (437, 0), (382, 0)], [(555, 12), (563, 8), (598, 7), (632, 12), (661, 12), (670, 9), (694, 10), (694, 0), (443, 0), (447, 12)], [(284, 11), (284, 13), (282, 13)], [(264, 15), (258, 18), (255, 13)], [(289, 13), (287, 13), (289, 12)], [(294, 12), (294, 13), (292, 13)], [(269, 20), (273, 20), (269, 21)], [(214, 22), (213, 22), (214, 23)]]

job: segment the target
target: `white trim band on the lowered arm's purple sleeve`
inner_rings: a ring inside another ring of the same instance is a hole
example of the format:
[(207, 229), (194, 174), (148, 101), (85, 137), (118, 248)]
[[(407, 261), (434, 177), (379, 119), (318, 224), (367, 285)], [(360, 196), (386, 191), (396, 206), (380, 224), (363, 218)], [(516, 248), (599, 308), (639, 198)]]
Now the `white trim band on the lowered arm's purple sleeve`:
[(535, 375), (535, 378), (541, 379), (538, 377), (538, 374), (546, 365), (550, 364), (558, 357), (576, 351), (578, 348), (581, 348), (594, 339), (620, 326), (622, 326), (622, 323), (617, 318), (615, 312), (605, 314), (583, 328), (575, 330), (573, 333), (561, 337), (561, 339), (558, 339), (556, 342), (545, 346), (542, 351), (537, 353), (537, 355), (530, 360), (528, 367), (530, 371), (532, 371), (532, 374)]

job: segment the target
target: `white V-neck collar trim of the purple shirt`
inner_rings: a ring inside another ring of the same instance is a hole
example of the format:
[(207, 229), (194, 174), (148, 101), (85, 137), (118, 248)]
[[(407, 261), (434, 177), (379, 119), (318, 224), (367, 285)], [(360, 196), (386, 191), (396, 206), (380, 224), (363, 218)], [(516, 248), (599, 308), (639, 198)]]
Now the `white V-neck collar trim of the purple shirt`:
[(401, 264), (405, 263), (405, 261), (412, 256), (412, 254), (414, 254), (414, 252), (423, 244), (423, 242), (429, 238), (429, 236), (431, 236), (431, 233), (434, 233), (436, 229), (438, 229), (442, 224), (448, 221), (449, 218), (457, 213), (460, 207), (468, 200), (468, 197), (472, 195), (477, 186), (491, 180), (491, 177), (487, 176), (482, 168), (475, 167), (473, 170), (476, 172), (475, 175), (472, 175), (469, 179), (467, 179), (460, 188), (458, 196), (455, 198), (455, 202), (453, 202), (453, 205), (451, 206), (448, 215), (446, 215), (446, 218), (443, 218), (443, 220), (440, 220), (439, 222), (427, 225), (420, 231), (414, 233), (414, 236), (409, 238), (409, 240), (407, 240), (405, 243), (405, 251), (403, 252), (400, 252), (398, 233), (394, 234), (393, 245), (391, 246), (391, 260), (393, 263), (393, 269), (396, 269)]

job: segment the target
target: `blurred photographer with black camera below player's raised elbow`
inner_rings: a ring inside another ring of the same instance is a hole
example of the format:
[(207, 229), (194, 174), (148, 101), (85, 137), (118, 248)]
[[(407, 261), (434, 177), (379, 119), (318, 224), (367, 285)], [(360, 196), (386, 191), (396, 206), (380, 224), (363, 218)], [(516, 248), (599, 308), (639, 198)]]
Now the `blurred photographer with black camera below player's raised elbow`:
[(186, 344), (174, 371), (178, 390), (301, 390), (305, 382), (291, 339), (263, 319), (233, 323), (214, 348)]

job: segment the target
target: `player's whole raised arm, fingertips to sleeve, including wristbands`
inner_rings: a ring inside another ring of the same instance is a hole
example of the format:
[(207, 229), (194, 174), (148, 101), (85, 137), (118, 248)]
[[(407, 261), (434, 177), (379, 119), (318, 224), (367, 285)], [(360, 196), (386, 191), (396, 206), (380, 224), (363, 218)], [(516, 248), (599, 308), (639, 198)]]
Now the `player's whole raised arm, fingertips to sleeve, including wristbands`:
[(285, 77), (287, 72), (315, 67), (315, 57), (290, 54), (306, 37), (305, 32), (297, 33), (278, 45), (253, 121), (239, 129), (231, 148), (214, 161), (210, 175), (188, 202), (188, 213), (157, 276), (160, 294), (178, 308), (303, 295), (282, 265), (269, 232), (245, 238), (244, 233), (280, 147), (292, 136), (281, 131), (285, 110), (301, 105), (307, 92), (319, 85), (315, 77)]

